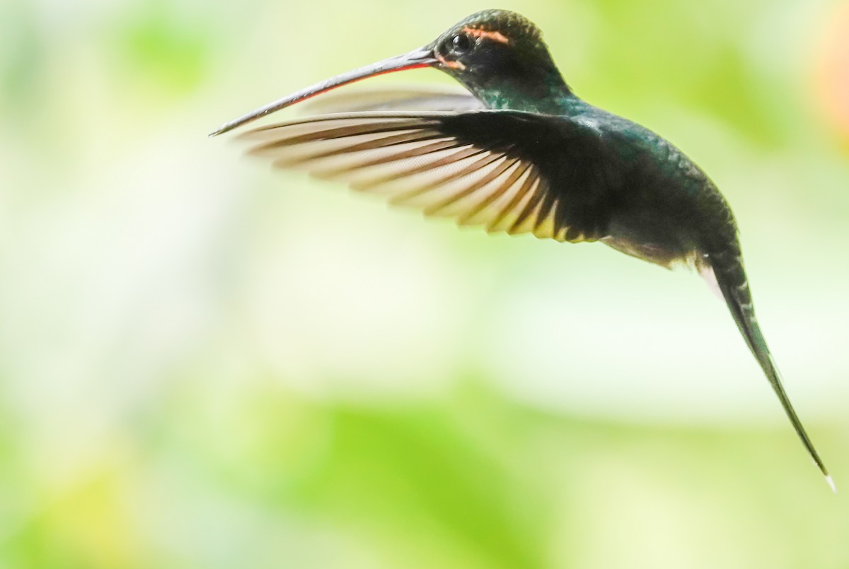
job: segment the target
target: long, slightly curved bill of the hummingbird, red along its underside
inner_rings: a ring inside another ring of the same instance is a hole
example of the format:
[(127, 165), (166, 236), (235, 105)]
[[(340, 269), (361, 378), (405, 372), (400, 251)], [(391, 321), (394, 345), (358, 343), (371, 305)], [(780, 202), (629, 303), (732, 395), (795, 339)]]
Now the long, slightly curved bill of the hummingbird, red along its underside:
[(321, 83), (316, 83), (313, 86), (308, 86), (306, 89), (301, 89), (301, 91), (292, 93), (289, 97), (284, 97), (274, 101), (273, 103), (268, 103), (260, 109), (256, 109), (244, 116), (240, 116), (238, 119), (225, 123), (217, 131), (212, 132), (210, 136), (216, 137), (224, 132), (232, 131), (234, 128), (245, 125), (252, 120), (259, 119), (266, 114), (271, 114), (280, 109), (285, 109), (292, 104), (315, 97), (323, 92), (328, 92), (338, 86), (347, 85), (348, 83), (360, 81), (361, 79), (366, 79), (368, 77), (374, 77), (375, 75), (383, 75), (394, 71), (413, 70), (419, 67), (428, 67), (435, 63), (436, 58), (433, 55), (433, 49), (430, 47), (420, 47), (419, 49), (414, 49), (412, 52), (404, 53), (403, 55), (398, 55), (394, 58), (384, 59), (376, 64), (366, 65), (358, 70), (348, 71), (342, 75), (336, 75), (327, 81), (322, 81)]

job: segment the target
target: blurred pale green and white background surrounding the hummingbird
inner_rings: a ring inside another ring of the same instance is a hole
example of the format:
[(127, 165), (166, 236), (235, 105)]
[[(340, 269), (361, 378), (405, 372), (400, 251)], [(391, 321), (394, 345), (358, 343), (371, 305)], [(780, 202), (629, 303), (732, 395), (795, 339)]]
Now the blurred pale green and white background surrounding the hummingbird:
[(0, 566), (849, 567), (845, 2), (498, 6), (722, 188), (836, 496), (697, 276), (206, 138), (494, 7), (0, 3)]

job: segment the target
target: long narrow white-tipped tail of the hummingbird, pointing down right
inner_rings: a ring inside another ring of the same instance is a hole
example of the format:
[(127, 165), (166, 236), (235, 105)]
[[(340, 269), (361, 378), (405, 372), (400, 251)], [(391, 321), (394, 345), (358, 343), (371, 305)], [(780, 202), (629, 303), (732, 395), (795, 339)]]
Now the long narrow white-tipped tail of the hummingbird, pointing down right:
[(814, 463), (823, 473), (826, 482), (836, 492), (835, 483), (829, 476), (829, 471), (826, 470), (817, 449), (814, 448), (811, 439), (807, 436), (805, 427), (802, 427), (799, 417), (796, 416), (796, 410), (790, 404), (790, 398), (781, 384), (781, 374), (775, 365), (772, 354), (769, 353), (767, 341), (761, 333), (761, 326), (758, 326), (755, 318), (755, 309), (751, 303), (749, 282), (745, 276), (742, 260), (738, 254), (709, 255), (708, 259), (713, 268), (714, 276), (717, 278), (719, 290), (722, 292), (722, 296), (725, 298), (726, 304), (728, 304), (728, 310), (731, 310), (731, 315), (734, 316), (734, 321), (737, 323), (740, 333), (743, 334), (746, 344), (748, 344), (751, 353), (761, 365), (763, 372), (773, 386), (775, 394), (779, 396), (781, 406), (784, 407), (784, 412), (787, 413), (787, 417), (796, 430), (796, 434), (799, 435), (802, 444), (805, 445), (808, 455), (811, 455)]

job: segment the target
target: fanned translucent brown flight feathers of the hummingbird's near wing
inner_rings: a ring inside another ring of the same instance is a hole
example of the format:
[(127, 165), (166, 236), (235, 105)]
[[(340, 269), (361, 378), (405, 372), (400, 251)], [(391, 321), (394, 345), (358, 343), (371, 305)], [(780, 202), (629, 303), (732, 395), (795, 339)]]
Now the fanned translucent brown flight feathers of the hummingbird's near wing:
[[(346, 181), (361, 192), (385, 195), (391, 204), (425, 215), (451, 217), (488, 232), (530, 232), (540, 238), (581, 241), (559, 215), (559, 200), (538, 166), (509, 141), (475, 142), (451, 131), (465, 123), (496, 120), (510, 111), (464, 114), (337, 114), (249, 131), (250, 153), (279, 168)], [(524, 114), (524, 113), (521, 113)], [(503, 120), (501, 117), (500, 120)]]

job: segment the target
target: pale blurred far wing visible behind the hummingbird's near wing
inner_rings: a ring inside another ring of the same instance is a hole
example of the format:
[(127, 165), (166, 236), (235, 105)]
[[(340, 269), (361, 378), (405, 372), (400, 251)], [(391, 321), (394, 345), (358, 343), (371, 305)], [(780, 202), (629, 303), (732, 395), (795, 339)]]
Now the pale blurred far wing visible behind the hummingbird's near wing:
[(333, 91), (298, 105), (302, 114), (363, 111), (464, 111), (483, 109), (469, 92), (457, 89), (353, 89)]

